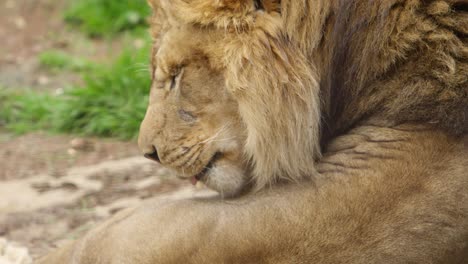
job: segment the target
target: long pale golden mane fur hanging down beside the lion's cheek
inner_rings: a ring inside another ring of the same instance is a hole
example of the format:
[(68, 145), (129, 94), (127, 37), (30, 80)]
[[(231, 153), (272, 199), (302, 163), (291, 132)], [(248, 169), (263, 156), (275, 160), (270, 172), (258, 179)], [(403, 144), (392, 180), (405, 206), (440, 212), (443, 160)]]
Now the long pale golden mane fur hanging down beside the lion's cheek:
[(247, 127), (245, 151), (262, 188), (312, 177), (321, 104), (315, 67), (288, 41), (281, 17), (256, 19), (225, 47), (224, 59), (227, 87)]

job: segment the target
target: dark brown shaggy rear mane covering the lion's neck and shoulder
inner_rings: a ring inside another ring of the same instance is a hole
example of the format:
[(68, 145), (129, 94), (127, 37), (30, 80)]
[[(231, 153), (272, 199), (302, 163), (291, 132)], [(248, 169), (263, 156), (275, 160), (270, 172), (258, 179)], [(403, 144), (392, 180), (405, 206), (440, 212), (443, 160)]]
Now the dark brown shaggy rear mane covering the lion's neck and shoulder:
[(322, 140), (362, 123), (468, 132), (464, 0), (283, 0), (286, 34), (321, 65)]

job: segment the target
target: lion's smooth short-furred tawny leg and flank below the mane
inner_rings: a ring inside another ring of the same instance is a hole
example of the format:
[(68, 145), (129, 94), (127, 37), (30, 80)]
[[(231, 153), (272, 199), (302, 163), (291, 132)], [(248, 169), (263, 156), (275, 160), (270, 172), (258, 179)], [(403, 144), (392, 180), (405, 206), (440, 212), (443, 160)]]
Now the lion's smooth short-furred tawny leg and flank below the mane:
[(149, 203), (70, 250), (75, 263), (460, 263), (467, 143), (363, 127), (330, 145), (315, 187)]

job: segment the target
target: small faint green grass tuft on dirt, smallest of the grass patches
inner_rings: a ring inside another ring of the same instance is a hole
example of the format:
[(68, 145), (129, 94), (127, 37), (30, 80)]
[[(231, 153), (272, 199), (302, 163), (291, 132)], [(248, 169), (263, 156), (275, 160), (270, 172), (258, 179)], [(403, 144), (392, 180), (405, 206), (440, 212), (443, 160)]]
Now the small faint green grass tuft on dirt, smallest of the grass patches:
[(86, 71), (92, 68), (91, 62), (70, 56), (69, 54), (59, 50), (44, 51), (38, 56), (41, 66), (52, 70), (70, 70), (70, 71)]

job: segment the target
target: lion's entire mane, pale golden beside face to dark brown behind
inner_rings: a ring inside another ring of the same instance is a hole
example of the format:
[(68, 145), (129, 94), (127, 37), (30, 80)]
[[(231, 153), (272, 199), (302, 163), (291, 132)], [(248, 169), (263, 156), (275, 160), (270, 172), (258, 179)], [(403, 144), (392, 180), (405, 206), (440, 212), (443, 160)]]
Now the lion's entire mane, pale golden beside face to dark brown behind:
[(464, 0), (158, 2), (225, 34), (257, 188), (312, 178), (320, 140), (359, 124), (468, 132)]

